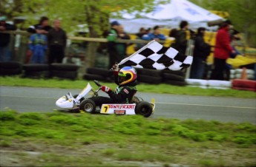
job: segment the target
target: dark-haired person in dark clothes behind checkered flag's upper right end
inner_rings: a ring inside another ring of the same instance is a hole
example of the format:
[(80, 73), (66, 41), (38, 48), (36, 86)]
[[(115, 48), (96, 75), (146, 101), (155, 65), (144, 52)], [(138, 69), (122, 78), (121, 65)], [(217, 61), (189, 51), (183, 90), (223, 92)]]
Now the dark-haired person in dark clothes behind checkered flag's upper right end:
[(183, 53), (185, 55), (186, 48), (187, 48), (187, 33), (188, 30), (188, 21), (181, 21), (180, 22), (180, 30), (177, 31), (175, 35), (175, 42), (174, 44), (171, 44), (171, 47), (178, 50), (179, 52)]

